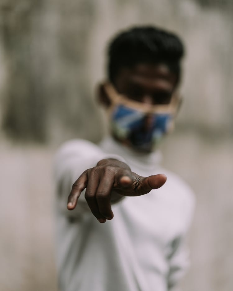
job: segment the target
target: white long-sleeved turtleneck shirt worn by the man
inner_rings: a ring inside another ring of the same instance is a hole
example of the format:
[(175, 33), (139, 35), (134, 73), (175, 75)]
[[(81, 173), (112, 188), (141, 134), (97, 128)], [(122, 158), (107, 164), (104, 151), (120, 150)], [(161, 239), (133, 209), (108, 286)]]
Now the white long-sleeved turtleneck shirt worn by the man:
[[(101, 224), (82, 192), (66, 209), (72, 184), (103, 158), (125, 161), (131, 171), (165, 173), (161, 188), (112, 205), (114, 218)], [(85, 140), (64, 144), (55, 159), (57, 185), (57, 266), (61, 291), (173, 290), (188, 265), (185, 236), (194, 195), (176, 175), (159, 166), (160, 154), (138, 154), (111, 138), (100, 145)]]

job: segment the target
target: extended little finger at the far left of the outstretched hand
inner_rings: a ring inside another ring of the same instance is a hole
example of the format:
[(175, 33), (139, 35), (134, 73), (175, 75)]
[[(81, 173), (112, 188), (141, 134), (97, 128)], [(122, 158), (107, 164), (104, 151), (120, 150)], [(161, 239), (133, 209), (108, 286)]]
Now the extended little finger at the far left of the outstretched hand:
[(81, 192), (86, 188), (88, 181), (87, 172), (83, 172), (82, 175), (74, 182), (71, 193), (68, 196), (67, 209), (73, 210), (77, 204), (78, 198)]

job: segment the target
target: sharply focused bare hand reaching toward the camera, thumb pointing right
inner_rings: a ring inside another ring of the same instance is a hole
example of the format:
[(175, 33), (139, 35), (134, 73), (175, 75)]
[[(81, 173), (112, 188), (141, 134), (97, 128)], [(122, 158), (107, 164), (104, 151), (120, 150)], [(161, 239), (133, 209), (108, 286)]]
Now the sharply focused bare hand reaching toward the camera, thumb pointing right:
[(94, 168), (84, 171), (72, 186), (67, 208), (75, 208), (81, 192), (86, 188), (85, 199), (99, 222), (111, 220), (111, 196), (140, 196), (161, 187), (167, 180), (164, 174), (142, 177), (131, 172), (130, 167), (114, 159), (103, 159)]

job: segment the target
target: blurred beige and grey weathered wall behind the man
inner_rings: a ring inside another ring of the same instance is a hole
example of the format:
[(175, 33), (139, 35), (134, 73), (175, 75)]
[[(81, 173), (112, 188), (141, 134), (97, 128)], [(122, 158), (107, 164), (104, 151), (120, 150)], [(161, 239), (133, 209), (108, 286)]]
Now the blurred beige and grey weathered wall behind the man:
[(106, 44), (140, 24), (186, 45), (184, 102), (161, 146), (197, 196), (183, 289), (232, 290), (232, 16), (231, 0), (0, 0), (1, 290), (57, 290), (53, 154), (69, 138), (101, 139)]

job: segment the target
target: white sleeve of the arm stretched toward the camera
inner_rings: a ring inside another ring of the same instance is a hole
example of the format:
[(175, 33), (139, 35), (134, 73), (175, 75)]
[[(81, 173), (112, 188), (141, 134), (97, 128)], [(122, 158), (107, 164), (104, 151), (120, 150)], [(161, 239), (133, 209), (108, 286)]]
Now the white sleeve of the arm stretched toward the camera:
[(74, 210), (68, 210), (67, 199), (72, 185), (87, 169), (96, 166), (101, 159), (125, 160), (116, 154), (106, 154), (97, 145), (85, 140), (71, 140), (62, 145), (54, 159), (54, 179), (57, 210), (69, 217), (78, 218), (83, 213), (91, 213), (85, 200), (85, 190), (81, 193)]

